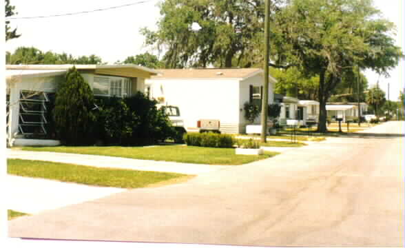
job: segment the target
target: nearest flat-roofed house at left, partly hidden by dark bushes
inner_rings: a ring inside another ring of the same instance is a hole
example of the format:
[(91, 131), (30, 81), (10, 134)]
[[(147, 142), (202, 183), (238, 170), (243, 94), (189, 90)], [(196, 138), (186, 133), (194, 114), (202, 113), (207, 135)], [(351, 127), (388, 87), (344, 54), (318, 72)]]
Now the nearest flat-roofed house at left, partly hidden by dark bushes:
[[(57, 145), (47, 130), (48, 103), (73, 66), (94, 96), (131, 96), (144, 92), (154, 70), (137, 65), (6, 65), (8, 145)], [(38, 139), (38, 137), (42, 137)]]

